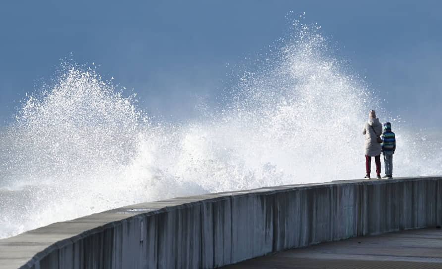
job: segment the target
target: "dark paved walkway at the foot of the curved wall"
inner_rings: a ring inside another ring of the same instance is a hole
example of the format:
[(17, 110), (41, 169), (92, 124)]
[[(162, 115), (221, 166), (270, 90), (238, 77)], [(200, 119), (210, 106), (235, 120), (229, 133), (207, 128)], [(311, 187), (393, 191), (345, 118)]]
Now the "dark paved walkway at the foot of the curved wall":
[(291, 249), (222, 269), (440, 269), (442, 230), (418, 229), (354, 237)]

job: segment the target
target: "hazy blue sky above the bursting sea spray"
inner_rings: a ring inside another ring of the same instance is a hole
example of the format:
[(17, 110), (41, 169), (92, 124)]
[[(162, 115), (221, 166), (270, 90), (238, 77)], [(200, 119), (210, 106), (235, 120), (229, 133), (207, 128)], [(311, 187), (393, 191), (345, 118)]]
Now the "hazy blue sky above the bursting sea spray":
[(289, 11), (320, 24), (389, 110), (442, 126), (436, 0), (2, 1), (0, 125), (71, 52), (75, 62), (95, 62), (102, 76), (134, 89), (147, 111), (192, 117), (195, 95), (225, 87), (226, 63), (256, 55), (287, 32)]

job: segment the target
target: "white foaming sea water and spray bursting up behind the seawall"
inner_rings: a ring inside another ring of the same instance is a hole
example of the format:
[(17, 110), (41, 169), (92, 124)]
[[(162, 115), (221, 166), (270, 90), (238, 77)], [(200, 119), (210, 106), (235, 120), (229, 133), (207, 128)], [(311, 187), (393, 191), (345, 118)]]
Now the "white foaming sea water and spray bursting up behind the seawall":
[(395, 177), (442, 175), (441, 132), (395, 117), (329, 44), (295, 22), (217, 107), (182, 123), (62, 64), (0, 130), (0, 238), (175, 196), (362, 178), (370, 109), (396, 133)]

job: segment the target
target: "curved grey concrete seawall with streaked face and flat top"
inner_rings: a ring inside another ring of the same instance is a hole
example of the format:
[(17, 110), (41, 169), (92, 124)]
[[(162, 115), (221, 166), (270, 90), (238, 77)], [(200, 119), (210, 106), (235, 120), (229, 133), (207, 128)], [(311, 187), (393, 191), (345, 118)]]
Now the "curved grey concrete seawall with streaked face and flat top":
[(442, 177), (173, 198), (0, 240), (0, 269), (216, 268), (284, 249), (442, 224)]

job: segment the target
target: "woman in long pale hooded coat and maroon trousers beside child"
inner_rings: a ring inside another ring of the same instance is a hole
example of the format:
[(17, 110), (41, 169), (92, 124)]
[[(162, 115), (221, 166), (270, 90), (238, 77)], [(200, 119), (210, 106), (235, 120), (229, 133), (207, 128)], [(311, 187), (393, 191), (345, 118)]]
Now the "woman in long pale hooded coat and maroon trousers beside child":
[(365, 154), (365, 172), (366, 179), (370, 179), (371, 160), (375, 157), (377, 179), (381, 179), (381, 143), (378, 142), (377, 136), (382, 134), (382, 124), (376, 118), (376, 112), (370, 110), (369, 119), (364, 124), (362, 134), (365, 134), (364, 154)]

